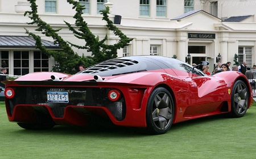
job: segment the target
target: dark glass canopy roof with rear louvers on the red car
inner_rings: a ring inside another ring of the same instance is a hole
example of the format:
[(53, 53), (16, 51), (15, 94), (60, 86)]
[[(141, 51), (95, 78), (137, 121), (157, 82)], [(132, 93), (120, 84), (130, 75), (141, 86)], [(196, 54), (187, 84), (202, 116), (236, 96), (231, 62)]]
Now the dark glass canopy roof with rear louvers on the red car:
[[(191, 65), (188, 65), (187, 63), (179, 61), (175, 58), (155, 55), (136, 55), (109, 59), (107, 61), (85, 68), (85, 70), (78, 72), (77, 74), (114, 76), (167, 68), (174, 68), (181, 71), (192, 70)], [(197, 69), (195, 68), (195, 70)], [(203, 75), (203, 73), (200, 75)]]

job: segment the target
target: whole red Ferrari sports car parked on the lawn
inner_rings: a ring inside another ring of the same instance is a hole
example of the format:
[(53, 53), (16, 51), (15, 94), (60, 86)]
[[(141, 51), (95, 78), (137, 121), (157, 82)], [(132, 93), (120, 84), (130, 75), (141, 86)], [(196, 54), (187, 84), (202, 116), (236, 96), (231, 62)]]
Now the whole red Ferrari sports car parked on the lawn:
[(110, 122), (164, 134), (189, 119), (243, 117), (253, 102), (240, 72), (208, 76), (177, 59), (149, 55), (110, 59), (75, 75), (34, 72), (3, 83), (9, 121), (26, 129)]

